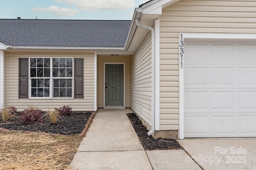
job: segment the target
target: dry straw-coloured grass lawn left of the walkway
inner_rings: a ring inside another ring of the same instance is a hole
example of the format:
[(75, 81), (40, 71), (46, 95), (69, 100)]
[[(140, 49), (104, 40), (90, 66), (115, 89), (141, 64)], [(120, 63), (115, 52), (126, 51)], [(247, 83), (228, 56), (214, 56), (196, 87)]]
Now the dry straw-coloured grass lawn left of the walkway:
[(0, 170), (68, 170), (81, 138), (0, 131)]

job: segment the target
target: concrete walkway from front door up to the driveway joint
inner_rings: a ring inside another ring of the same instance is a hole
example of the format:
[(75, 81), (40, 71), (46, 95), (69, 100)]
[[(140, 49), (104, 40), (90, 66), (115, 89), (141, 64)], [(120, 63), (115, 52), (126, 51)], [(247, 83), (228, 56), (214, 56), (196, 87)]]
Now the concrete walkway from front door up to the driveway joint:
[(71, 170), (184, 170), (201, 168), (186, 161), (184, 150), (145, 151), (126, 113), (99, 109), (76, 152)]

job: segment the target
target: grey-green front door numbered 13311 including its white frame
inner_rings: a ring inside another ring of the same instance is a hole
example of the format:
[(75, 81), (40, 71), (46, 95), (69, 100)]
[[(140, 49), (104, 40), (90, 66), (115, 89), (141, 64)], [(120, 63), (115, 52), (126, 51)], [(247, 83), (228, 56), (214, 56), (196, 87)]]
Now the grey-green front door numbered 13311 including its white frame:
[(125, 109), (125, 63), (104, 63), (104, 109)]

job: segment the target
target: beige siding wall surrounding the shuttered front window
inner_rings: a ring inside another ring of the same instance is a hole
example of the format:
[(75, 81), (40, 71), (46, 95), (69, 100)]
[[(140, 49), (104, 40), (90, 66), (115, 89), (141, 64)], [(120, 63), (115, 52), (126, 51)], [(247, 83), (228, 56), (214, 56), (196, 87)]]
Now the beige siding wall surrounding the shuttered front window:
[[(29, 57), (74, 57), (84, 58), (84, 98), (83, 99), (18, 99), (18, 58)], [(94, 110), (94, 53), (8, 53), (8, 105), (15, 106), (18, 111), (28, 105), (36, 105), (39, 109), (70, 105), (74, 111)]]

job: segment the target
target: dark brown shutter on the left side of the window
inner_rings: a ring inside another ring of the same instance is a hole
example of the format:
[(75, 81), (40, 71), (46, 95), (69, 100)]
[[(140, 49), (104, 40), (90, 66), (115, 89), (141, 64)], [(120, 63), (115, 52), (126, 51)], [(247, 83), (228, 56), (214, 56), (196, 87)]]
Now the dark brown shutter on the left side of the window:
[(28, 98), (28, 58), (19, 58), (19, 99)]

